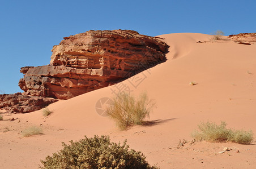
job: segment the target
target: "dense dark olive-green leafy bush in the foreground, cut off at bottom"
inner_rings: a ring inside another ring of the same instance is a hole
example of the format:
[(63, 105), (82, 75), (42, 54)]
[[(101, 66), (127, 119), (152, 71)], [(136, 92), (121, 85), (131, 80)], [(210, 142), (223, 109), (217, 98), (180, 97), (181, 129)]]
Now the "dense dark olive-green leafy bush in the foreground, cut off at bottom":
[(150, 166), (141, 152), (129, 150), (126, 140), (121, 145), (110, 142), (109, 136), (94, 136), (62, 143), (63, 149), (49, 155), (40, 168), (157, 168)]

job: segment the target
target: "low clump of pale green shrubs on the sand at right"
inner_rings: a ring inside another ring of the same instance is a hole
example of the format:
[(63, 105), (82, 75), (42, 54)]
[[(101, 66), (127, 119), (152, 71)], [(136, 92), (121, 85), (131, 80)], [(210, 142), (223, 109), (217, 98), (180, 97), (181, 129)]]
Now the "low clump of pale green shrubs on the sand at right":
[(200, 131), (195, 130), (191, 136), (196, 140), (206, 141), (232, 141), (239, 144), (249, 144), (253, 141), (253, 132), (244, 130), (232, 130), (226, 128), (227, 123), (217, 125), (213, 122), (201, 122), (198, 125)]

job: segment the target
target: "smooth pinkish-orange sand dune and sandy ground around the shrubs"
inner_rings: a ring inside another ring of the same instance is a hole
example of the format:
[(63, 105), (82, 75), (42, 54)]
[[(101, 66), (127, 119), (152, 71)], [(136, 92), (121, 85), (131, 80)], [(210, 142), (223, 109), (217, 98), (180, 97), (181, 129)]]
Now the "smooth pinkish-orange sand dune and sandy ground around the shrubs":
[[(110, 135), (116, 142), (127, 139), (131, 148), (141, 150), (151, 164), (161, 168), (255, 168), (255, 142), (203, 141), (177, 149), (180, 139), (192, 140), (190, 133), (200, 121), (226, 121), (228, 127), (251, 128), (256, 133), (255, 44), (214, 42), (209, 40), (211, 35), (196, 33), (160, 37), (170, 46), (167, 62), (114, 86), (54, 103), (49, 106), (54, 113), (47, 118), (41, 111), (5, 115), (5, 119), (19, 119), (0, 122), (0, 168), (36, 168), (40, 159), (61, 149), (61, 141), (83, 135)], [(190, 86), (192, 81), (197, 85)], [(119, 90), (133, 95), (147, 91), (157, 103), (150, 116), (156, 123), (118, 131), (113, 121), (97, 114), (97, 101)], [(45, 134), (27, 138), (18, 134), (32, 124), (41, 124)], [(6, 127), (11, 131), (3, 132)], [(219, 154), (225, 146), (233, 150)]]

